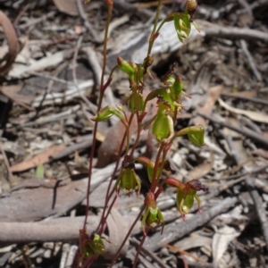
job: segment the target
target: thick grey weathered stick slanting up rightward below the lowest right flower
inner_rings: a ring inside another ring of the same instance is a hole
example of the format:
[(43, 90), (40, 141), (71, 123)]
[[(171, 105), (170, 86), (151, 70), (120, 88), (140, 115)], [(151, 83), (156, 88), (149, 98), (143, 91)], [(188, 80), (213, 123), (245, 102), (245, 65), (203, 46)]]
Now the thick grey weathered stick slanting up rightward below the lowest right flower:
[(172, 241), (181, 239), (185, 235), (188, 235), (198, 227), (203, 226), (206, 222), (211, 221), (218, 214), (222, 214), (235, 205), (238, 201), (238, 197), (227, 197), (218, 205), (214, 205), (210, 209), (206, 210), (202, 216), (195, 215), (188, 219), (187, 222), (180, 222), (173, 226), (167, 226), (164, 230), (164, 235), (161, 237), (160, 233), (155, 233), (146, 244), (149, 250), (156, 251), (163, 247), (164, 244), (172, 243)]

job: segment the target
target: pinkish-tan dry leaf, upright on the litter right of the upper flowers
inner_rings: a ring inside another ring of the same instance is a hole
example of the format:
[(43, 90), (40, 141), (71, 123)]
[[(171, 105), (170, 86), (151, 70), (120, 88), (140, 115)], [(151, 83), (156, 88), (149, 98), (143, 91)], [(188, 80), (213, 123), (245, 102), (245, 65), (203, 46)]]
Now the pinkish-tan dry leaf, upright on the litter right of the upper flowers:
[[(215, 102), (221, 96), (221, 92), (222, 92), (222, 85), (215, 86), (213, 88), (209, 88), (207, 90), (207, 100), (205, 102), (205, 105), (197, 108), (197, 112), (204, 113), (206, 115), (210, 115), (213, 111)], [(207, 125), (207, 121), (203, 117), (197, 116), (193, 119), (193, 124), (194, 125), (202, 125), (205, 127)]]

